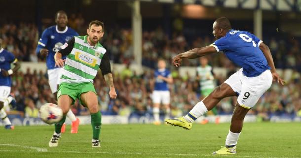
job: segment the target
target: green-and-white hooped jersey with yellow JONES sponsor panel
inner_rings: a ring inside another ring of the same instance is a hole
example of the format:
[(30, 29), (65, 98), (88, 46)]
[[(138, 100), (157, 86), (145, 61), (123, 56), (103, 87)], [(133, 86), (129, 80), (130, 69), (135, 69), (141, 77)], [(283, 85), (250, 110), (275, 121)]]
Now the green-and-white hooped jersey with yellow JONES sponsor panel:
[[(65, 43), (59, 52), (62, 55), (67, 55), (59, 83), (93, 83), (106, 49), (99, 43), (90, 46), (87, 42), (87, 36), (75, 36)], [(109, 58), (106, 59), (105, 63), (109, 63), (110, 69)], [(108, 65), (104, 67), (108, 67)]]

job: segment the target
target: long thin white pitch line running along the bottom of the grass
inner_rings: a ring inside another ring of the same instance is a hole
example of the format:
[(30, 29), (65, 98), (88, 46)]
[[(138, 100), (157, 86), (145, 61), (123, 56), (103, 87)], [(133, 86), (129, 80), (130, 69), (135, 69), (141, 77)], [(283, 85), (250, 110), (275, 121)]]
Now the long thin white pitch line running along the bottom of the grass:
[[(0, 144), (1, 145), (1, 144)], [(43, 149), (43, 148), (41, 148)], [(47, 150), (47, 149), (46, 149)], [(27, 150), (0, 150), (0, 152), (35, 152), (35, 151), (27, 151)], [(41, 151), (38, 151), (41, 152)], [(128, 154), (128, 155), (170, 155), (170, 156), (214, 156), (211, 154), (176, 154), (176, 153), (140, 153), (140, 152), (80, 152), (80, 151), (47, 151), (48, 153), (97, 153), (97, 154)], [(241, 156), (241, 155), (217, 155), (222, 157), (240, 157), (240, 158), (301, 158), (301, 157), (263, 157), (263, 156)]]

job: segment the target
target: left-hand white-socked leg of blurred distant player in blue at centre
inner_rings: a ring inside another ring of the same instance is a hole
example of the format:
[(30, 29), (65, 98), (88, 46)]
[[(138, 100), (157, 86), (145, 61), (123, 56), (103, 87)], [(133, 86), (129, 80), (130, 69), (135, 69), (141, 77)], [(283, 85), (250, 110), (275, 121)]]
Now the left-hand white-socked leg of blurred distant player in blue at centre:
[(161, 104), (161, 94), (160, 91), (153, 91), (152, 93), (152, 114), (154, 118), (153, 124), (160, 125), (160, 104)]

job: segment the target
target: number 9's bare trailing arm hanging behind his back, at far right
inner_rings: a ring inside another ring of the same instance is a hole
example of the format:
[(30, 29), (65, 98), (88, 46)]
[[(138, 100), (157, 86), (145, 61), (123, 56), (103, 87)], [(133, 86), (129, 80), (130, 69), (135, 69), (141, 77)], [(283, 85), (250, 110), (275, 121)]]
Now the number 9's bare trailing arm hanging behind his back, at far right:
[(281, 85), (284, 85), (285, 81), (283, 79), (281, 79), (279, 74), (276, 72), (273, 57), (272, 57), (272, 54), (271, 54), (271, 51), (270, 51), (269, 47), (262, 42), (262, 43), (260, 43), (259, 48), (263, 52), (263, 54), (264, 54), (264, 56), (267, 60), (268, 65), (271, 67), (271, 72), (272, 72), (272, 75), (273, 75), (273, 81), (277, 81)]

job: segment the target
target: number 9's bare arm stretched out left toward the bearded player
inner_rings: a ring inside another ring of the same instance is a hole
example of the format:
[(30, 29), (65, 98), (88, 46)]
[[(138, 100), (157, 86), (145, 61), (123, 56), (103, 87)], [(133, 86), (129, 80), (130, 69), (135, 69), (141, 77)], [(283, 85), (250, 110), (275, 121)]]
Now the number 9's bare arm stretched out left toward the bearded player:
[(172, 63), (179, 67), (182, 61), (182, 58), (194, 59), (201, 56), (209, 55), (212, 53), (216, 53), (216, 49), (213, 46), (206, 46), (202, 48), (194, 48), (184, 53), (180, 53), (177, 56), (173, 57)]

